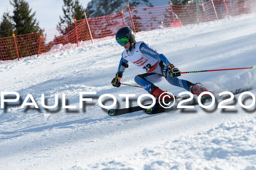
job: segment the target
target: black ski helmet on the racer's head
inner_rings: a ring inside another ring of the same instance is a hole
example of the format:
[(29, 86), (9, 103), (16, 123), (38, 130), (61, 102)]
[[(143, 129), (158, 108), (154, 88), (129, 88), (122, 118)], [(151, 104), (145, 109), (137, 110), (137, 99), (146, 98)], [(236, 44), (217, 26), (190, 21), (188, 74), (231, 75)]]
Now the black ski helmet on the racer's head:
[(123, 27), (116, 32), (116, 40), (126, 37), (129, 43), (135, 42), (135, 35), (131, 27)]

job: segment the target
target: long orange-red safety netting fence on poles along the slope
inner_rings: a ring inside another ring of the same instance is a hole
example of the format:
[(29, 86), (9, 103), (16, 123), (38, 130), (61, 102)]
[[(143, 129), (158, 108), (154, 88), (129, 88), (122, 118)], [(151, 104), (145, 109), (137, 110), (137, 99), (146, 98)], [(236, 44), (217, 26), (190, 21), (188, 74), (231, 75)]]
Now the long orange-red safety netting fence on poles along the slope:
[(114, 36), (124, 26), (135, 32), (180, 27), (251, 13), (255, 0), (210, 0), (197, 5), (164, 5), (159, 7), (127, 7), (123, 12), (86, 18), (46, 31), (0, 38), (0, 60), (50, 54), (93, 40)]

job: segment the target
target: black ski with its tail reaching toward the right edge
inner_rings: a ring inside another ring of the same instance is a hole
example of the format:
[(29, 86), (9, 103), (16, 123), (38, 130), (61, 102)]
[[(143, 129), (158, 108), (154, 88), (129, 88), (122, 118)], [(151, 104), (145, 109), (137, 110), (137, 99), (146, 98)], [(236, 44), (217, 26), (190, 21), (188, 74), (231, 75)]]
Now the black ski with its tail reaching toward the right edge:
[[(236, 90), (232, 90), (230, 91), (231, 93), (233, 93), (234, 95), (236, 94), (240, 94), (242, 92), (245, 91), (250, 91), (252, 90), (252, 88), (238, 88)], [(214, 95), (215, 96), (215, 95)], [(215, 96), (215, 99), (221, 99), (219, 96)], [(177, 102), (180, 102), (181, 100), (183, 100), (182, 98), (178, 99)], [(201, 103), (206, 103), (206, 102), (210, 102), (211, 101), (211, 96), (206, 96), (206, 97), (202, 97), (201, 98)], [(190, 102), (189, 105), (197, 105), (197, 98), (193, 98)], [(178, 108), (175, 107), (171, 107), (171, 108), (164, 108), (162, 106), (154, 106), (151, 108), (146, 108), (145, 109), (145, 113), (149, 114), (149, 115), (153, 115), (153, 114), (159, 114), (159, 113), (163, 113), (163, 112), (167, 112), (167, 111), (172, 111), (172, 110), (177, 110)]]

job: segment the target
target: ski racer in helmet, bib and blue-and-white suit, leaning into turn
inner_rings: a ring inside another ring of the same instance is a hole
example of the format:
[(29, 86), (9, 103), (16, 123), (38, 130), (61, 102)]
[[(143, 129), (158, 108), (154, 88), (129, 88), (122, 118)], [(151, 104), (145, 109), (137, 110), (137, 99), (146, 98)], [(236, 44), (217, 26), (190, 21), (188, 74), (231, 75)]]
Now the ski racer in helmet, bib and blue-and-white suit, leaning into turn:
[[(208, 91), (198, 84), (177, 78), (181, 75), (180, 70), (173, 64), (167, 66), (163, 63), (160, 59), (160, 55), (163, 56), (163, 54), (159, 54), (155, 49), (150, 48), (148, 44), (143, 41), (136, 42), (131, 27), (120, 28), (116, 33), (116, 40), (118, 44), (125, 48), (125, 50), (122, 53), (116, 77), (111, 82), (114, 87), (120, 87), (120, 80), (123, 77), (123, 72), (128, 68), (128, 62), (131, 62), (146, 72), (145, 74), (136, 75), (134, 78), (135, 82), (153, 95), (156, 100), (158, 100), (159, 96), (165, 91), (161, 90), (153, 83), (160, 82), (163, 79), (166, 79), (167, 82), (173, 86), (182, 87), (195, 95)], [(160, 100), (163, 99), (162, 96)], [(169, 98), (173, 98), (173, 96), (169, 95)]]

